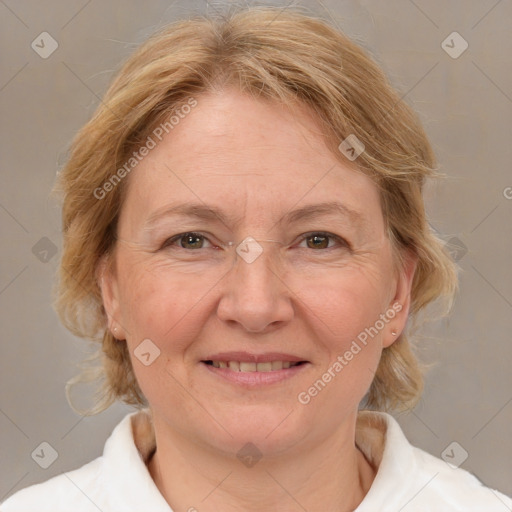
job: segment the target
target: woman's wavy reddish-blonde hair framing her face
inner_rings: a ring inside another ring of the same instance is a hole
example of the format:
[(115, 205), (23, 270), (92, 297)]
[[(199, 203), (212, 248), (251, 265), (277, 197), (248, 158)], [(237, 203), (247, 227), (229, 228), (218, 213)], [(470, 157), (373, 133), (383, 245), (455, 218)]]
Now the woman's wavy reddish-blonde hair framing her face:
[[(379, 187), (397, 268), (402, 269), (404, 250), (418, 256), (410, 318), (440, 297), (451, 308), (456, 268), (428, 225), (422, 197), (425, 179), (439, 175), (433, 151), (416, 115), (372, 58), (328, 22), (297, 9), (237, 8), (226, 19), (179, 21), (151, 37), (122, 66), (59, 174), (64, 240), (55, 307), (71, 332), (101, 344), (101, 364), (70, 381), (102, 380), (90, 414), (116, 400), (147, 405), (126, 343), (107, 328), (96, 277), (100, 258), (115, 246), (127, 180), (101, 199), (94, 191), (179, 105), (227, 86), (255, 98), (310, 107), (342, 161), (347, 162), (338, 145), (355, 134), (366, 149), (354, 163)], [(384, 349), (365, 406), (411, 407), (422, 388), (422, 371), (404, 330)]]

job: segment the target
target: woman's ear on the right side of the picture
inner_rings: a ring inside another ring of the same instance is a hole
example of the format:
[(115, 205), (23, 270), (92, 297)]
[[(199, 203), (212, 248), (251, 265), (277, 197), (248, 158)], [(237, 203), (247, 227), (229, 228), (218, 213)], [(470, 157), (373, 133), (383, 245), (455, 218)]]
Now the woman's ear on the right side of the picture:
[[(411, 290), (418, 265), (418, 256), (411, 250), (403, 252), (403, 267), (397, 271), (396, 277), (396, 291), (393, 300), (389, 304), (389, 312), (394, 311), (395, 315), (389, 318), (389, 323), (382, 337), (382, 346), (384, 348), (392, 345), (405, 329), (409, 310), (411, 306)], [(387, 313), (386, 313), (387, 315)], [(395, 332), (396, 334), (392, 334)]]

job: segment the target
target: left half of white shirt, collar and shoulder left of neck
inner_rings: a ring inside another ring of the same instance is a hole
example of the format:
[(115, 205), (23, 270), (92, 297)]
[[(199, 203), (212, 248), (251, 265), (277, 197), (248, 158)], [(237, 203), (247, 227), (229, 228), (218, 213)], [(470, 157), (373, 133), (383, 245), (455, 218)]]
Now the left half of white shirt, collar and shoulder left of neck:
[(149, 415), (144, 411), (128, 414), (113, 430), (101, 457), (18, 491), (0, 505), (0, 511), (168, 512), (144, 462), (153, 445)]

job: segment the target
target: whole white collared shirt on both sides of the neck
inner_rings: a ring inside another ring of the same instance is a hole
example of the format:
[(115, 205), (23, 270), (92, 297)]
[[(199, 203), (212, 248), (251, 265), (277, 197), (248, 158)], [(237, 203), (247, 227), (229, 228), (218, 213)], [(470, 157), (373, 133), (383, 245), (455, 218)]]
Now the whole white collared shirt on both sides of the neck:
[[(356, 444), (378, 467), (356, 512), (512, 511), (511, 498), (485, 487), (467, 471), (412, 446), (389, 414), (359, 412)], [(172, 512), (146, 466), (154, 448), (148, 411), (128, 414), (105, 443), (101, 457), (16, 492), (0, 510)]]

